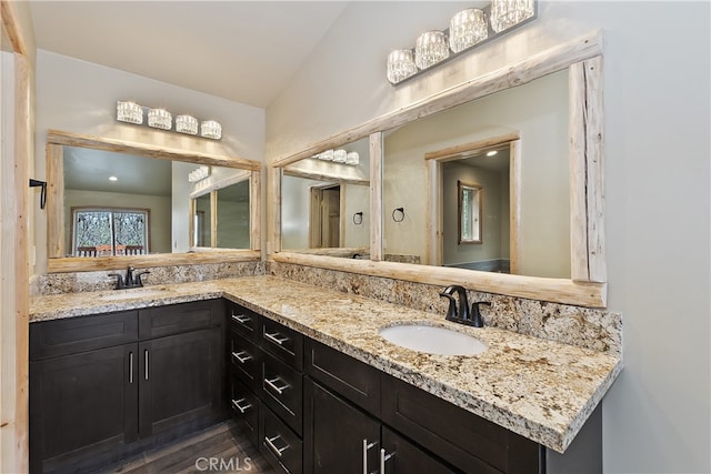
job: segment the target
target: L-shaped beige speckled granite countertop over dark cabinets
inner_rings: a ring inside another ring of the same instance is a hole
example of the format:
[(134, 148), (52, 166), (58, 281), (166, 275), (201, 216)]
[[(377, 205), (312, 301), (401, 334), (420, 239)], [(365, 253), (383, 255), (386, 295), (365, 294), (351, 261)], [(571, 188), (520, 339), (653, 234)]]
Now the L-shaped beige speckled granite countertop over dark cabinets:
[[(131, 292), (137, 297), (123, 297)], [(30, 321), (214, 297), (243, 304), (560, 453), (622, 370), (619, 357), (602, 352), (495, 327), (469, 327), (444, 315), (273, 276), (34, 296)], [(378, 333), (382, 326), (411, 322), (471, 334), (489, 347), (470, 356), (427, 354)]]

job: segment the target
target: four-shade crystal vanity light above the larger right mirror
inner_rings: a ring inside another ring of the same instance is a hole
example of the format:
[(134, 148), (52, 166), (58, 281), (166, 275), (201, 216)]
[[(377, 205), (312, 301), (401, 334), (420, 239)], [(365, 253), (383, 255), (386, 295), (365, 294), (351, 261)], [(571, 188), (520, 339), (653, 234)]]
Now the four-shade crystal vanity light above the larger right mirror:
[(537, 0), (491, 0), (455, 13), (444, 31), (425, 31), (412, 49), (388, 54), (388, 81), (395, 85), (538, 18)]

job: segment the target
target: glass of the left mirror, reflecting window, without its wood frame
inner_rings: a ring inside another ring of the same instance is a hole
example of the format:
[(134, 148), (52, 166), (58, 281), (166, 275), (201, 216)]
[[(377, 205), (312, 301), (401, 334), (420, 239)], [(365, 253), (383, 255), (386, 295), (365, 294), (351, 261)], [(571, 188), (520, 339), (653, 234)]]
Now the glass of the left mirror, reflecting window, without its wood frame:
[[(200, 169), (210, 173), (194, 181)], [(194, 200), (196, 246), (250, 248), (249, 175), (243, 170), (64, 147), (63, 171), (68, 256), (188, 252), (190, 195), (201, 192), (196, 190), (204, 193)], [(242, 183), (229, 183), (234, 175)], [(222, 201), (214, 220), (213, 194)], [(217, 232), (213, 221), (220, 222)]]

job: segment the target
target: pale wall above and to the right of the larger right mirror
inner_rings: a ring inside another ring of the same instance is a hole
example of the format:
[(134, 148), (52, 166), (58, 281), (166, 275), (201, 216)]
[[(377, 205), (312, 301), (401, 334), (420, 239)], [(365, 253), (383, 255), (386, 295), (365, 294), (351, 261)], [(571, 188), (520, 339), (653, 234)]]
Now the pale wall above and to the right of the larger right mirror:
[(608, 301), (623, 314), (625, 360), (603, 402), (604, 470), (711, 472), (711, 4), (542, 1), (520, 31), (387, 82), (390, 50), (469, 6), (350, 3), (268, 108), (268, 159), (603, 29)]

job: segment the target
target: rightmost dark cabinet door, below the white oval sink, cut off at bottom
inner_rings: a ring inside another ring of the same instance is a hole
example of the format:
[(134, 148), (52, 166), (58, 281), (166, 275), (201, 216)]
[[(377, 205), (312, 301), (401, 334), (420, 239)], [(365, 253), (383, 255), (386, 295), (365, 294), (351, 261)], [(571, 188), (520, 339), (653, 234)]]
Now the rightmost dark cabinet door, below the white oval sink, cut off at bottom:
[(455, 471), (399, 434), (382, 427), (382, 463), (380, 474), (455, 474)]

